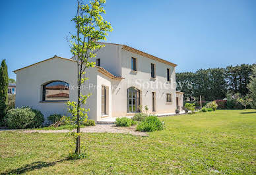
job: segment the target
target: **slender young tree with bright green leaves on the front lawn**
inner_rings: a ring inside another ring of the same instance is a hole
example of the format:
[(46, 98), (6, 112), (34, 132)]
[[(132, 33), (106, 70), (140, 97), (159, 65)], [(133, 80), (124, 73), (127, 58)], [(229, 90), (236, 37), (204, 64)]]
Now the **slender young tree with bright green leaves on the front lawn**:
[(85, 70), (92, 68), (95, 62), (96, 52), (104, 47), (97, 41), (106, 40), (108, 32), (112, 31), (110, 22), (102, 17), (105, 13), (102, 7), (105, 0), (92, 0), (89, 4), (77, 1), (77, 15), (72, 19), (75, 22), (76, 32), (71, 34), (70, 45), (71, 53), (77, 61), (77, 101), (69, 101), (67, 106), (72, 114), (71, 120), (75, 124), (77, 131), (73, 134), (76, 140), (75, 155), (80, 155), (80, 125), (87, 118), (87, 112), (90, 109), (84, 109), (82, 105), (86, 104), (86, 99), (90, 94), (82, 94), (81, 86), (85, 78)]

